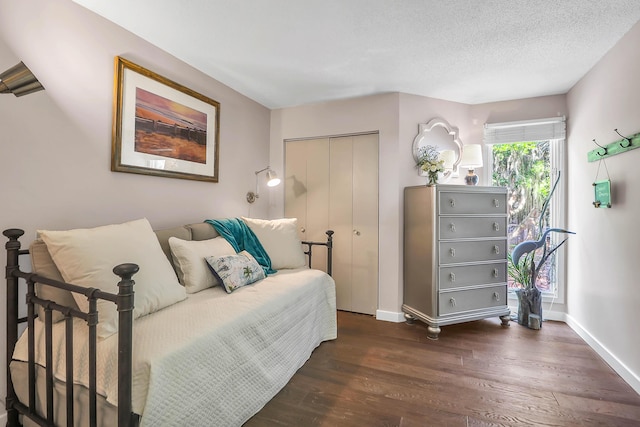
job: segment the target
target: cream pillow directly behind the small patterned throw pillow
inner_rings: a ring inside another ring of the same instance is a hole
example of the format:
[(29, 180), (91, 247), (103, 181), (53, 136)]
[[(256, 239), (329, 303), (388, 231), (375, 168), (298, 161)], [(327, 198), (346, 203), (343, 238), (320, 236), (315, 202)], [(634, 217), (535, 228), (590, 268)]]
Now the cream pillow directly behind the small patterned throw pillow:
[(211, 288), (220, 282), (207, 267), (206, 257), (235, 255), (233, 246), (224, 237), (207, 240), (182, 240), (169, 237), (171, 257), (178, 272), (178, 278), (187, 290), (193, 294)]

